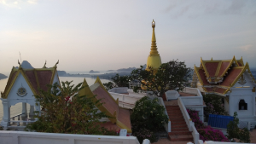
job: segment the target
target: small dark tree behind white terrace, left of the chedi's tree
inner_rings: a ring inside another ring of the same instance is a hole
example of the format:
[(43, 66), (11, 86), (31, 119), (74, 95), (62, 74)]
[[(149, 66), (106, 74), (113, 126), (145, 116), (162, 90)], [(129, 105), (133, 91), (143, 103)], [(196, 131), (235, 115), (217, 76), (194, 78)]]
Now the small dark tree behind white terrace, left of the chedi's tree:
[(131, 76), (119, 76), (117, 73), (114, 77), (110, 78), (113, 82), (104, 83), (106, 89), (113, 89), (116, 87), (129, 87)]

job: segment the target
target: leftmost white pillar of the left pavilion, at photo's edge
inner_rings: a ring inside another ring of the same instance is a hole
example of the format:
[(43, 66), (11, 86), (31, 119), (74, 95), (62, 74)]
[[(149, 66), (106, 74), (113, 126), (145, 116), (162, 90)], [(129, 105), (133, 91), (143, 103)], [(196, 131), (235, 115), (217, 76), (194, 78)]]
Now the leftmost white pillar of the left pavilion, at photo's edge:
[(9, 101), (7, 99), (1, 99), (3, 104), (3, 120), (1, 121), (1, 125), (3, 126), (4, 130), (7, 129), (7, 126), (9, 126), (9, 120), (10, 120), (10, 107), (9, 107)]

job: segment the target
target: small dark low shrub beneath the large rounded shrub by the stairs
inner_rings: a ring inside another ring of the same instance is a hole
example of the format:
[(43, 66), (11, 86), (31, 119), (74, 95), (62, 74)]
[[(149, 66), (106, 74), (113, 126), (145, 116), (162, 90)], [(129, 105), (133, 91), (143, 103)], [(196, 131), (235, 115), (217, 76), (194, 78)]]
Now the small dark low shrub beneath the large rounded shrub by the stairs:
[(148, 139), (151, 143), (156, 141), (156, 137), (154, 135), (154, 132), (147, 130), (147, 129), (141, 129), (138, 130), (137, 132), (133, 132), (134, 136), (137, 136), (137, 140), (140, 143), (143, 143), (144, 139)]

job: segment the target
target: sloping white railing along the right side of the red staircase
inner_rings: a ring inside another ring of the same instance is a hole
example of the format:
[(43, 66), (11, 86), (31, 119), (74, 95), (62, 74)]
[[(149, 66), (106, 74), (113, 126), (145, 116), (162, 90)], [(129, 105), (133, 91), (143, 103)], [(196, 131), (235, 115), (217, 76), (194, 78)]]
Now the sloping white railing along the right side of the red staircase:
[(192, 119), (189, 117), (189, 113), (187, 112), (186, 107), (183, 104), (183, 100), (181, 99), (181, 97), (177, 98), (177, 105), (180, 108), (181, 112), (183, 113), (183, 118), (189, 128), (189, 131), (192, 131), (192, 135), (194, 138), (194, 143), (198, 144), (198, 140), (199, 140), (199, 133), (197, 132), (197, 130), (195, 129), (195, 124), (192, 122)]

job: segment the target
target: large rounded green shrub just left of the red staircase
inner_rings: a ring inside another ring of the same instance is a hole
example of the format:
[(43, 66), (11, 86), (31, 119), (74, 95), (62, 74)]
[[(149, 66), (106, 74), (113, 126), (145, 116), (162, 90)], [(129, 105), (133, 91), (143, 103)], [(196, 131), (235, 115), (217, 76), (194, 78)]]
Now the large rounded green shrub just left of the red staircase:
[(150, 100), (147, 96), (144, 96), (136, 102), (135, 107), (132, 109), (132, 130), (160, 130), (163, 124), (168, 123), (168, 118), (164, 111), (165, 107), (160, 106), (158, 98)]

